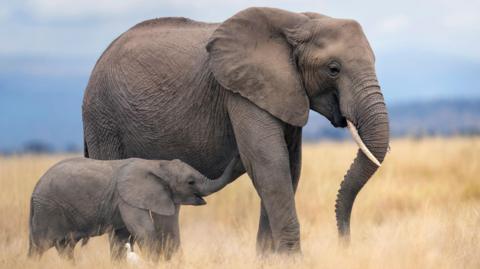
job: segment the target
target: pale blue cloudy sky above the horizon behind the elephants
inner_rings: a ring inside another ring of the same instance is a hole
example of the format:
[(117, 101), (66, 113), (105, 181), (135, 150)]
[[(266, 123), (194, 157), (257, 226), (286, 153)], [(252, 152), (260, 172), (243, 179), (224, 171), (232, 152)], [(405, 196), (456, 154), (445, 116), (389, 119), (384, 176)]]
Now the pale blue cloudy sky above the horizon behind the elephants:
[(96, 59), (134, 24), (219, 22), (249, 6), (359, 21), (387, 102), (480, 98), (480, 1), (0, 0), (0, 149), (81, 141), (80, 104)]

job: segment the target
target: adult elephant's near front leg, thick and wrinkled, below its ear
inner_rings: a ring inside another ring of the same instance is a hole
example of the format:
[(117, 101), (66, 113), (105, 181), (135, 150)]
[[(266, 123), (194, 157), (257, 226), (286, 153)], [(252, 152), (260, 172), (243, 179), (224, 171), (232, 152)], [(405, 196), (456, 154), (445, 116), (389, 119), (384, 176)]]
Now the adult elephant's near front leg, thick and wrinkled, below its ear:
[(229, 116), (242, 162), (262, 200), (257, 246), (300, 251), (285, 124), (239, 95), (231, 99)]

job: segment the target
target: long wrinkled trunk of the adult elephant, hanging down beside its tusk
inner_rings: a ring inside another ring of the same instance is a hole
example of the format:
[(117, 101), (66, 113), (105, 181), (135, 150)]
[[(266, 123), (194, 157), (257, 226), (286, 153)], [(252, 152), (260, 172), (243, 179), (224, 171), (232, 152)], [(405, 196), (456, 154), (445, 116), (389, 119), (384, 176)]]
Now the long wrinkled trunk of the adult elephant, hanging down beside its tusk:
[[(375, 75), (363, 77), (354, 88), (355, 105), (349, 106), (349, 126), (358, 129), (360, 149), (337, 194), (335, 213), (341, 237), (350, 239), (350, 216), (358, 192), (377, 171), (388, 150), (389, 123), (386, 105)], [(356, 127), (356, 128), (355, 128)], [(363, 144), (363, 146), (362, 146)], [(376, 160), (378, 160), (376, 162)]]

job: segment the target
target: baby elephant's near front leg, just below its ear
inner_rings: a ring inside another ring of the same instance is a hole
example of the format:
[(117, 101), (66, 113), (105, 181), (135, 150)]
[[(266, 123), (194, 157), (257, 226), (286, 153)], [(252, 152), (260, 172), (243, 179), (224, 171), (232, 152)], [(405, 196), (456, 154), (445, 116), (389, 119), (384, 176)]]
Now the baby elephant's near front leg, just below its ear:
[(147, 258), (157, 262), (161, 252), (161, 242), (155, 230), (154, 219), (148, 210), (132, 207), (126, 203), (119, 204), (120, 214), (128, 231), (132, 234)]

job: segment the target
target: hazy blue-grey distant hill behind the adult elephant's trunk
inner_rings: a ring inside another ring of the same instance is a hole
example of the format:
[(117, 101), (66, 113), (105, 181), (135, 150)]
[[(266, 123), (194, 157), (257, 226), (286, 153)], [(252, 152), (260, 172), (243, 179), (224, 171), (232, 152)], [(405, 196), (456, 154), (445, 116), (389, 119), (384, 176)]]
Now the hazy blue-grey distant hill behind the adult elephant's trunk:
[[(480, 99), (398, 103), (389, 105), (388, 111), (393, 137), (480, 135)], [(322, 116), (310, 113), (306, 140), (347, 137), (345, 129), (334, 129)]]

